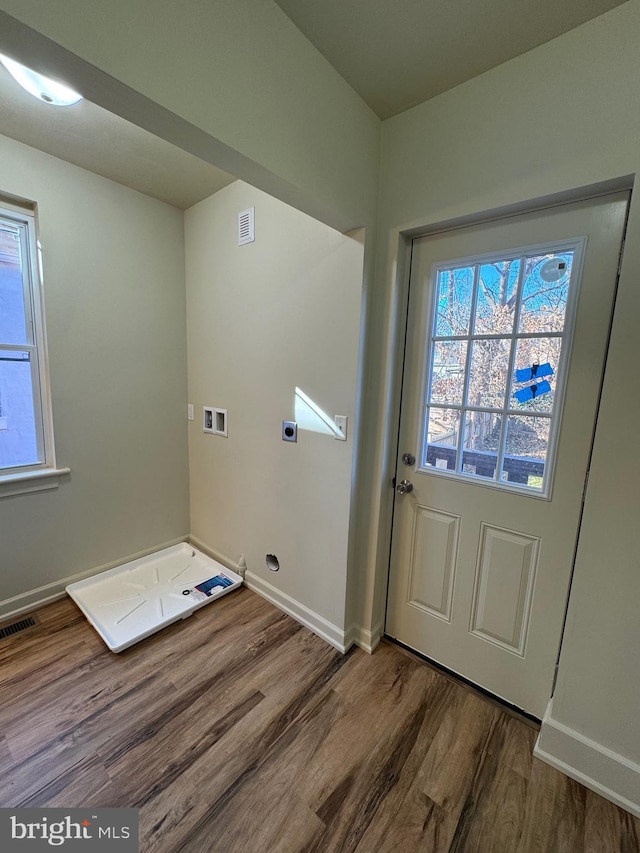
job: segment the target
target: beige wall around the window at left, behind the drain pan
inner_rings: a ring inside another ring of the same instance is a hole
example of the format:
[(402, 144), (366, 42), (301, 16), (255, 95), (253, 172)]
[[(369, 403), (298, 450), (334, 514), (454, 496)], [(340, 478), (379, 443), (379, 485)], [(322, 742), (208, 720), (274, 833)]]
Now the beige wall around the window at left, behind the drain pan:
[(0, 500), (5, 613), (183, 537), (189, 493), (182, 213), (6, 137), (0, 192), (38, 205), (57, 461), (71, 468), (56, 490)]

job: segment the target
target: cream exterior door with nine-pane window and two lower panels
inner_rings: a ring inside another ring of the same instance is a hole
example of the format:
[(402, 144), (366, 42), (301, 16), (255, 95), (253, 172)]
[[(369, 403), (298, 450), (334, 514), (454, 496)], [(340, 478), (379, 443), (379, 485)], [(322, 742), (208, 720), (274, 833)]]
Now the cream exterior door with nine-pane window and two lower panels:
[(603, 196), (413, 243), (386, 632), (539, 718), (627, 201)]

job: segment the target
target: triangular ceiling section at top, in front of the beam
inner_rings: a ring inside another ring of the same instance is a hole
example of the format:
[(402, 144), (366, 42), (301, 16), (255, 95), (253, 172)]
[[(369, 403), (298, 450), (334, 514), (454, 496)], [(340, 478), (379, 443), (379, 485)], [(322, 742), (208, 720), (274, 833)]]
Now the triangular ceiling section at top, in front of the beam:
[(388, 118), (626, 0), (275, 0)]

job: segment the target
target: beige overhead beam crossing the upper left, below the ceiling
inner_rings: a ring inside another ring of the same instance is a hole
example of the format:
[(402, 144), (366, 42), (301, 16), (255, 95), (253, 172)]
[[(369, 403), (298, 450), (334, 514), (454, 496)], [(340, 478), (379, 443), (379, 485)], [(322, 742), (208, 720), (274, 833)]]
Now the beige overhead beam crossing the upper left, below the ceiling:
[(272, 0), (1, 0), (0, 50), (334, 227), (373, 222), (380, 121)]

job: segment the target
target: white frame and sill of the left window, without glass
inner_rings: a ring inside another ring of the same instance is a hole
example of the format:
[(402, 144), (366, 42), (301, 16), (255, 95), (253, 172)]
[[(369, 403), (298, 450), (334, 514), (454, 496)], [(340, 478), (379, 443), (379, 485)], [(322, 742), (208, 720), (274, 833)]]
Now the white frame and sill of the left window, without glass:
[(0, 218), (20, 229), (26, 344), (0, 342), (0, 349), (30, 352), (33, 412), (38, 461), (0, 468), (0, 497), (56, 488), (68, 468), (56, 465), (49, 377), (41, 245), (35, 206), (21, 206), (0, 196)]

